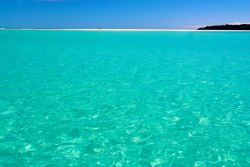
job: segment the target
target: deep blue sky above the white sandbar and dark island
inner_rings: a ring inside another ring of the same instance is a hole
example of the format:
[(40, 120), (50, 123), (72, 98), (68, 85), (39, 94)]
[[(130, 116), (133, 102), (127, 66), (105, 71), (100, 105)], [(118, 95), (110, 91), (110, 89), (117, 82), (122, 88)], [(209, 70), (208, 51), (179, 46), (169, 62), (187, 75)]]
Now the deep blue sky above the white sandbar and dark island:
[(250, 23), (250, 0), (0, 0), (7, 28), (197, 28)]

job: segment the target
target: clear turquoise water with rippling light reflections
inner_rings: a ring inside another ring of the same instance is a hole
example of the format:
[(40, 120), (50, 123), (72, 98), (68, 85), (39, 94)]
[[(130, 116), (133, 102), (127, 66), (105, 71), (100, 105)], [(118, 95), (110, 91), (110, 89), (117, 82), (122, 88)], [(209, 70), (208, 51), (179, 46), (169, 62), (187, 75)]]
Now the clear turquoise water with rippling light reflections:
[(249, 155), (249, 32), (0, 31), (0, 166)]

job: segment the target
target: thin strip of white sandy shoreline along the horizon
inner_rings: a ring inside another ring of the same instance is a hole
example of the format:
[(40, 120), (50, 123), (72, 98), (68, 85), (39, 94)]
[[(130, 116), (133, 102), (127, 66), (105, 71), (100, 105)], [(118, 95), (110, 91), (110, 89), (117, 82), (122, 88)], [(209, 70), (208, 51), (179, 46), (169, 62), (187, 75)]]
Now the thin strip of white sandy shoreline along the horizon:
[(130, 31), (130, 32), (250, 32), (250, 30), (196, 30), (196, 29), (65, 29), (65, 28), (0, 28), (0, 30), (42, 31)]

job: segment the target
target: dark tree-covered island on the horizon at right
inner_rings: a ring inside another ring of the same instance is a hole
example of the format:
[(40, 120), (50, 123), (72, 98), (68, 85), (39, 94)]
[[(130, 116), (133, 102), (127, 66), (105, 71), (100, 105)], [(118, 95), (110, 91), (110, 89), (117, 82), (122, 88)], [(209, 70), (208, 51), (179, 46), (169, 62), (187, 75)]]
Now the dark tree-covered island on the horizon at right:
[(250, 30), (250, 24), (225, 24), (200, 27), (198, 30)]

